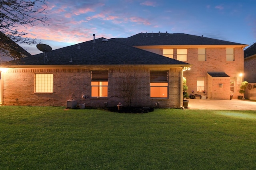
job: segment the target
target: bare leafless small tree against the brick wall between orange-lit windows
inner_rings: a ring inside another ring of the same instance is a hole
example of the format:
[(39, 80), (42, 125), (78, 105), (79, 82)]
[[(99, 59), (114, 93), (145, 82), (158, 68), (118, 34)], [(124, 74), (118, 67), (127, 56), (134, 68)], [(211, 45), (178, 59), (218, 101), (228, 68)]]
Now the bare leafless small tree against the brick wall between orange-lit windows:
[(116, 79), (118, 86), (121, 88), (122, 98), (124, 98), (128, 109), (132, 106), (134, 94), (136, 93), (141, 78), (142, 69), (132, 68), (132, 66), (130, 66), (124, 69), (124, 72)]

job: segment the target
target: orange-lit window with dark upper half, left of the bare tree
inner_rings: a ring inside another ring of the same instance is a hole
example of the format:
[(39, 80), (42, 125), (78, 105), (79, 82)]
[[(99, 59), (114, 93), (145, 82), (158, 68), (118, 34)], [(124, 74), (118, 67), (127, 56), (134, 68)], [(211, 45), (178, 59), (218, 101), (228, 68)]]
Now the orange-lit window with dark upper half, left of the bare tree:
[(92, 70), (92, 97), (108, 97), (108, 71)]

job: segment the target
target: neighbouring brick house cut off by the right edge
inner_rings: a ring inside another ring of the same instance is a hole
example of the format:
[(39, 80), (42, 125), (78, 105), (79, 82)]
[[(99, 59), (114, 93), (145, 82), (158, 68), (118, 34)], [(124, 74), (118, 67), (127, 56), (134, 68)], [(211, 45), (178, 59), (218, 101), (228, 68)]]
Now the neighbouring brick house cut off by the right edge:
[(244, 81), (256, 83), (256, 43), (244, 50)]

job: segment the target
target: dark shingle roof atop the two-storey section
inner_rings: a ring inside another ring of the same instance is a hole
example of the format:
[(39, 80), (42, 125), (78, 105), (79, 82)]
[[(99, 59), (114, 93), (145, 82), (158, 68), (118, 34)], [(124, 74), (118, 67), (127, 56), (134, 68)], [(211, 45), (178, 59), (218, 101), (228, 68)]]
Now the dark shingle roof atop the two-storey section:
[[(160, 35), (160, 36), (159, 36)], [(167, 35), (167, 36), (166, 36)], [(144, 45), (243, 45), (230, 41), (212, 39), (184, 33), (138, 33), (128, 38), (113, 38), (112, 40), (130, 46)]]

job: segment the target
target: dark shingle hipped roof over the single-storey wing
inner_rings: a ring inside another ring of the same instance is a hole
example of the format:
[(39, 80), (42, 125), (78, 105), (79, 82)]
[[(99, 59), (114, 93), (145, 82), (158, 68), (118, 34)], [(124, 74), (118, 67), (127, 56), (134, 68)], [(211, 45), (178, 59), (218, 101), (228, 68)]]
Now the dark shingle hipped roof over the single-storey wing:
[[(20, 60), (21, 65), (108, 65), (108, 64), (181, 64), (182, 61), (170, 59), (136, 47), (130, 47), (112, 40), (102, 42), (105, 38), (95, 39), (47, 53), (49, 61), (43, 53)], [(72, 60), (72, 62), (70, 62)], [(15, 63), (13, 63), (16, 65)]]

